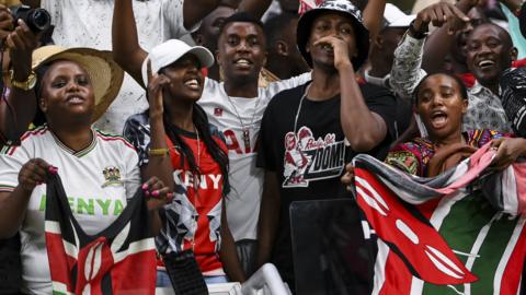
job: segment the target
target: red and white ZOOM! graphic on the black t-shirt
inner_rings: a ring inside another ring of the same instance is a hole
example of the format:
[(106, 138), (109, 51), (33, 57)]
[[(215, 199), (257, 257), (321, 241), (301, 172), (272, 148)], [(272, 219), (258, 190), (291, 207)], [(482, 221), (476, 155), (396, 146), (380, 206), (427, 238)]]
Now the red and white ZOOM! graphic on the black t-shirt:
[(345, 166), (345, 142), (334, 133), (316, 139), (308, 127), (285, 134), (284, 188), (308, 187), (309, 181), (339, 177)]

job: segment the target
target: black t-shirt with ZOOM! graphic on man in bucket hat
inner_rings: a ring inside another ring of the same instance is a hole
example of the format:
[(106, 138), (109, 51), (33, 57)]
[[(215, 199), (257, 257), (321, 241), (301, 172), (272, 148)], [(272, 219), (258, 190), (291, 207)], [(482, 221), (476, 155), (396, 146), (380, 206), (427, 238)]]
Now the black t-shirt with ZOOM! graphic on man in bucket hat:
[[(278, 93), (268, 104), (260, 132), (258, 166), (275, 172), (279, 184), (281, 209), (272, 261), (284, 281), (294, 288), (289, 205), (294, 201), (351, 198), (340, 182), (345, 164), (355, 152), (343, 134), (340, 121), (340, 95), (328, 101), (305, 98), (295, 130), (295, 118), (308, 84)], [(368, 108), (392, 126), (395, 97), (385, 88), (361, 85)], [(385, 156), (392, 141), (386, 139), (369, 154)]]

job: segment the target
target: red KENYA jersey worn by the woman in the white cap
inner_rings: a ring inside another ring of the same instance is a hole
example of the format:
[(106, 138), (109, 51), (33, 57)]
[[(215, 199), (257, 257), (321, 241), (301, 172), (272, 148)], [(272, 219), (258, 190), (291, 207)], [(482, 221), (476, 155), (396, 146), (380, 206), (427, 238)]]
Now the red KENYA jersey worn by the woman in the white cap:
[[(175, 181), (173, 201), (160, 211), (164, 221), (156, 243), (159, 252), (179, 252), (193, 249), (204, 275), (221, 275), (219, 260), (220, 226), (222, 210), (222, 174), (205, 143), (196, 134), (178, 129), (179, 134), (192, 150), (199, 163), (199, 176), (194, 176), (185, 162), (181, 165), (181, 151), (170, 149)], [(213, 138), (226, 151), (221, 134), (210, 128)], [(124, 134), (139, 152), (140, 165), (148, 163), (150, 126), (147, 113), (132, 116), (125, 125)], [(168, 139), (168, 146), (174, 146)], [(197, 148), (198, 145), (198, 148)]]

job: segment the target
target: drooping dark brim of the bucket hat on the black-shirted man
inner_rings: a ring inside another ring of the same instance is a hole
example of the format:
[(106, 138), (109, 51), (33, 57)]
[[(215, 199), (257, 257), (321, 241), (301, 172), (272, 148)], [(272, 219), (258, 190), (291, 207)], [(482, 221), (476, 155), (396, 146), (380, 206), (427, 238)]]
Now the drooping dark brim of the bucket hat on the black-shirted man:
[(358, 55), (354, 57), (351, 61), (354, 69), (358, 70), (359, 67), (364, 64), (365, 60), (367, 59), (367, 55), (369, 54), (369, 31), (362, 24), (362, 22), (357, 21), (353, 14), (345, 11), (316, 8), (307, 11), (304, 15), (301, 15), (301, 17), (299, 17), (298, 20), (298, 27), (296, 31), (296, 44), (298, 46), (299, 52), (304, 57), (305, 61), (307, 61), (307, 63), (312, 68), (312, 58), (310, 57), (310, 54), (307, 52), (306, 48), (307, 43), (309, 42), (310, 31), (312, 28), (312, 23), (315, 22), (315, 20), (321, 14), (328, 12), (342, 13), (348, 16), (350, 20), (352, 20)]

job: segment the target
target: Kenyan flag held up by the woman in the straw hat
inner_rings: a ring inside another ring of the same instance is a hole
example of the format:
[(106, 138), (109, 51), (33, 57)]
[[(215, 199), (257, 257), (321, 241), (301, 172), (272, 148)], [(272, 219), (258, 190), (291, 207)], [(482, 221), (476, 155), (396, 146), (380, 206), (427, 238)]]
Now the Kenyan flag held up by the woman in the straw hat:
[(60, 177), (49, 176), (45, 216), (54, 294), (155, 294), (156, 247), (140, 189), (115, 222), (89, 236), (71, 212)]

